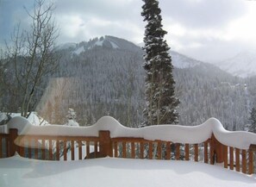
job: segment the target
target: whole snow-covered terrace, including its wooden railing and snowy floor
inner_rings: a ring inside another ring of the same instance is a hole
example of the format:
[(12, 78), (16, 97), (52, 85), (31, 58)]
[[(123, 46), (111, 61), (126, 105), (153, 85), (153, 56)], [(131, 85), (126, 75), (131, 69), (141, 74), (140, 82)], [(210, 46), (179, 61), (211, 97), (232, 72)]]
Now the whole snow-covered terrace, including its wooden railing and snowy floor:
[(3, 128), (0, 186), (256, 184), (256, 134), (229, 132), (215, 118), (196, 127), (126, 128), (104, 116), (78, 128), (15, 117)]

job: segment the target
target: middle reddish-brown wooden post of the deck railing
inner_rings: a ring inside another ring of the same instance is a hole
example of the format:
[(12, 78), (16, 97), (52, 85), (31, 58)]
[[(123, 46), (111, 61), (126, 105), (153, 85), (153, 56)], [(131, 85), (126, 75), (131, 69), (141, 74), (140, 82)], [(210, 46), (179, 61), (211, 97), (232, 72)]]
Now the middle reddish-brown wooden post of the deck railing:
[(101, 157), (113, 157), (112, 141), (109, 131), (99, 131), (99, 152)]

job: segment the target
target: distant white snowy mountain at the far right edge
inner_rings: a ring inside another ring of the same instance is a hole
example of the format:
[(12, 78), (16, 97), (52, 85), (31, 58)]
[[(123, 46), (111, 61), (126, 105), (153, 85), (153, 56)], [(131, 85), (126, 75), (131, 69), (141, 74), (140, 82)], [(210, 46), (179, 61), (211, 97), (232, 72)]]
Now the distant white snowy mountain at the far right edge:
[(256, 51), (239, 53), (234, 58), (215, 63), (222, 70), (240, 78), (256, 75)]

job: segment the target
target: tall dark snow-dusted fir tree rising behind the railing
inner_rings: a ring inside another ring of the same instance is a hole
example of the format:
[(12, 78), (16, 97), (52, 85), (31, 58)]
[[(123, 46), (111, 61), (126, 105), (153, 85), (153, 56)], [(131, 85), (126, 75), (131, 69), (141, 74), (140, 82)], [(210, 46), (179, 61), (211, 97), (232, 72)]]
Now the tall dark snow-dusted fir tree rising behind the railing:
[(172, 58), (164, 36), (167, 32), (162, 28), (159, 2), (143, 0), (141, 16), (147, 22), (144, 36), (146, 54), (144, 69), (146, 70), (146, 109), (145, 125), (178, 123), (179, 100), (175, 97), (175, 81), (172, 76)]

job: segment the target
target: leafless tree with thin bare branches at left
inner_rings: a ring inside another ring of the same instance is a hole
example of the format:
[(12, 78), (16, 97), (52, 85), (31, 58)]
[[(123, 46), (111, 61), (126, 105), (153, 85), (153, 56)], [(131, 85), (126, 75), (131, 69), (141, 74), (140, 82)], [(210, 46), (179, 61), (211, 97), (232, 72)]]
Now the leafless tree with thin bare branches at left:
[(10, 84), (17, 92), (18, 107), (22, 116), (28, 117), (38, 103), (38, 95), (43, 91), (44, 78), (58, 65), (58, 56), (54, 53), (54, 44), (58, 29), (53, 21), (53, 3), (35, 0), (32, 14), (26, 9), (31, 19), (29, 30), (22, 30), (20, 24), (11, 35), (11, 45), (6, 45), (9, 63), (14, 65), (15, 84)]

